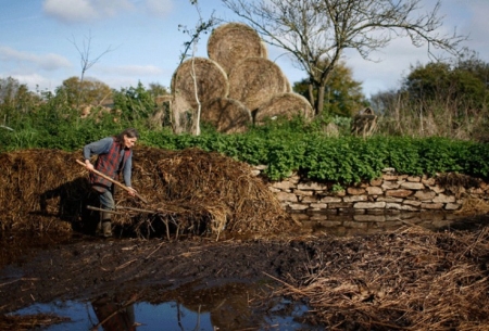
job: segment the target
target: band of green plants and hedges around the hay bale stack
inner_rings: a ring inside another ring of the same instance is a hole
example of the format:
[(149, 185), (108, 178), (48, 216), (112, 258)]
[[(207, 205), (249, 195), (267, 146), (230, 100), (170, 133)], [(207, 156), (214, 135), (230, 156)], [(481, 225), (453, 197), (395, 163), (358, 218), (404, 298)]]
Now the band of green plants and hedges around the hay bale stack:
[[(239, 135), (222, 135), (204, 125), (200, 136), (175, 135), (168, 107), (156, 102), (167, 93), (159, 85), (112, 90), (109, 98), (105, 85), (80, 84), (73, 77), (54, 92), (32, 92), (13, 78), (0, 79), (0, 152), (79, 151), (88, 142), (136, 127), (141, 144), (199, 148), (266, 165), (265, 174), (272, 180), (298, 171), (339, 188), (377, 178), (385, 167), (406, 175), (456, 171), (488, 179), (489, 149), (484, 141), (489, 136), (480, 139), (476, 135), (486, 132), (489, 118), (488, 87), (480, 84), (488, 65), (476, 58), (462, 60), (452, 65), (417, 66), (399, 91), (373, 98), (378, 129), (368, 138), (350, 133), (353, 114), (342, 114), (352, 112), (348, 107), (330, 109), (312, 122), (300, 117), (271, 120)], [(341, 100), (349, 94), (341, 93)], [(335, 135), (327, 131), (328, 126), (337, 128)]]

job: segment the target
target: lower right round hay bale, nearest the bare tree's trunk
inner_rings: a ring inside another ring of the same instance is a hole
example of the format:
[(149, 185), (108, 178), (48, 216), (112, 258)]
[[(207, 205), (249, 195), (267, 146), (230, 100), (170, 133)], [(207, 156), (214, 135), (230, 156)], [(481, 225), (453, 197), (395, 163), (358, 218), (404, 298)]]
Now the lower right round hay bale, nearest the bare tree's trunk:
[(285, 116), (290, 119), (294, 115), (302, 115), (305, 118), (312, 117), (312, 106), (308, 99), (301, 94), (286, 92), (275, 94), (268, 99), (254, 114), (254, 124), (264, 124), (267, 118)]

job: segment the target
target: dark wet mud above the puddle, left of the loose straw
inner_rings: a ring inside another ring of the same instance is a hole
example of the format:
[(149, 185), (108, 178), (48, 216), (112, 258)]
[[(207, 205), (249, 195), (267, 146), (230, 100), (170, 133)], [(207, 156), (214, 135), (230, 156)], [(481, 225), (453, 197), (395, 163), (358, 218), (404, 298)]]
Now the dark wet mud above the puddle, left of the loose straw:
[[(463, 231), (480, 230), (489, 224), (488, 218), (463, 219), (459, 227)], [(459, 229), (452, 226), (450, 231)], [(292, 237), (289, 233), (283, 238), (234, 238), (216, 242), (193, 237), (168, 242), (166, 239), (102, 239), (88, 234), (63, 238), (4, 233), (0, 254), (3, 319), (0, 327), (12, 323), (5, 320), (8, 313), (34, 303), (93, 302), (103, 296), (116, 297), (123, 303), (159, 304), (173, 300), (191, 306), (191, 298), (183, 297), (179, 289), (195, 287), (203, 291), (199, 294), (201, 302), (212, 305), (212, 293), (205, 290), (213, 288), (261, 283), (279, 289), (283, 282), (300, 287), (315, 272), (312, 266), (336, 259), (336, 264), (341, 265), (335, 268), (350, 272), (350, 262), (366, 250), (383, 254), (383, 243), (391, 240), (389, 235), (337, 238), (327, 233)], [(260, 295), (273, 292), (255, 292), (249, 302), (259, 303)], [(258, 330), (252, 329), (250, 316), (247, 317), (249, 330)], [(14, 324), (11, 327), (15, 330)]]

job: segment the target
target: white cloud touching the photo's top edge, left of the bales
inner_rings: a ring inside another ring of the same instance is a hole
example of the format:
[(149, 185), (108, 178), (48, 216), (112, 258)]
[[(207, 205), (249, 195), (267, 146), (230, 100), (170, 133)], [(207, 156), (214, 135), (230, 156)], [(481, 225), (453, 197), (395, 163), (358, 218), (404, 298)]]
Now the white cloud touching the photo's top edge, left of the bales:
[(130, 10), (128, 0), (45, 0), (43, 12), (64, 23), (90, 22)]

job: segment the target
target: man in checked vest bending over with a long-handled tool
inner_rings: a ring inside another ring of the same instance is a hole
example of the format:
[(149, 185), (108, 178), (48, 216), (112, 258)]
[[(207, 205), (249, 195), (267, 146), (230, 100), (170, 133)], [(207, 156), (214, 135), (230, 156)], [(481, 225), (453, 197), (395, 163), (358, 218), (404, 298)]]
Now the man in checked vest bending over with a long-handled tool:
[[(138, 138), (138, 131), (134, 128), (128, 128), (115, 137), (106, 137), (84, 147), (85, 165), (90, 171), (90, 183), (92, 189), (99, 194), (102, 209), (113, 211), (115, 208), (114, 184), (91, 170), (96, 169), (110, 178), (115, 178), (122, 171), (124, 183), (129, 189), (129, 195), (135, 196), (136, 190), (130, 186), (130, 173), (133, 168), (133, 147)], [(93, 155), (98, 155), (95, 165), (90, 162), (90, 157)], [(111, 218), (112, 213), (101, 213), (96, 230), (98, 235), (112, 237)]]

